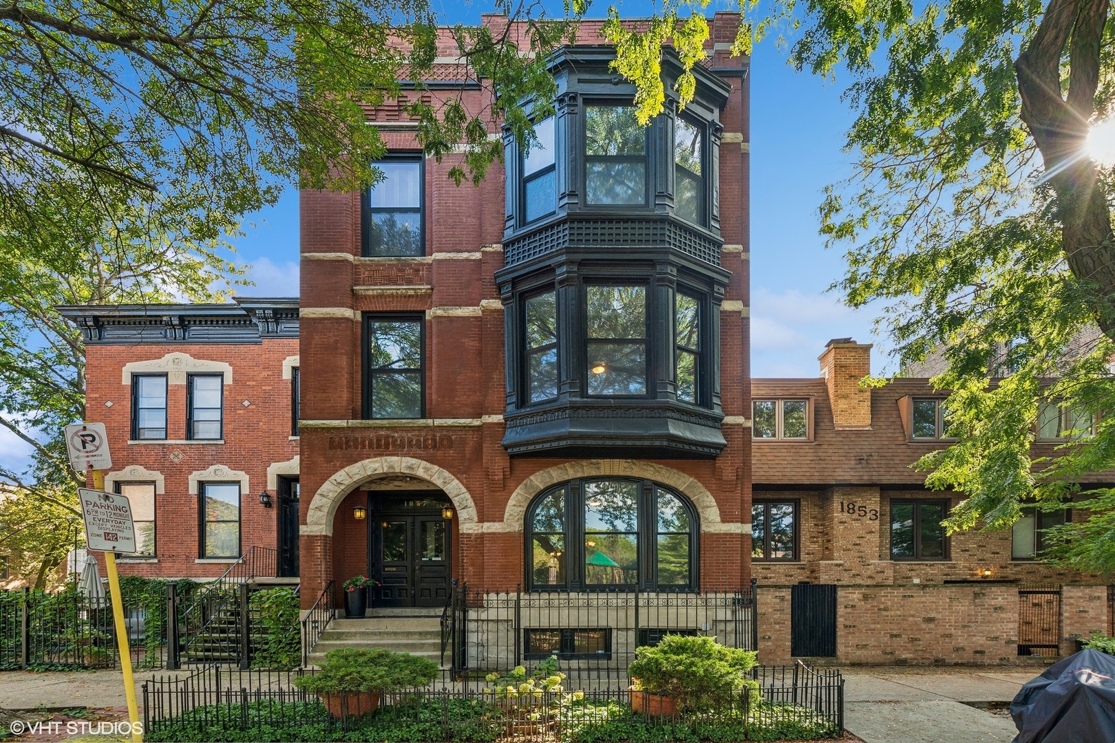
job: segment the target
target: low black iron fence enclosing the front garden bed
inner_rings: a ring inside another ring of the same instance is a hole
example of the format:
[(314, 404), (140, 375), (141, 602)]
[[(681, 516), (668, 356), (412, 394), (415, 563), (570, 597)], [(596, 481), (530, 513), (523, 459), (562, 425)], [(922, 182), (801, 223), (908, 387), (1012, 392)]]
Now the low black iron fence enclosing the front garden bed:
[(304, 673), (313, 672), (229, 672), (214, 666), (187, 676), (152, 678), (143, 685), (145, 737), (466, 743), (513, 736), (589, 743), (637, 735), (747, 741), (832, 737), (844, 725), (840, 672), (802, 664), (755, 668), (757, 690), (740, 688), (715, 704), (671, 716), (634, 712), (627, 690), (580, 690), (566, 683), (560, 692), (507, 695), (485, 688), (483, 682), (454, 682), (448, 675), (426, 688), (384, 694), (377, 708), (362, 714), (366, 698), (319, 697), (294, 688), (291, 680)]

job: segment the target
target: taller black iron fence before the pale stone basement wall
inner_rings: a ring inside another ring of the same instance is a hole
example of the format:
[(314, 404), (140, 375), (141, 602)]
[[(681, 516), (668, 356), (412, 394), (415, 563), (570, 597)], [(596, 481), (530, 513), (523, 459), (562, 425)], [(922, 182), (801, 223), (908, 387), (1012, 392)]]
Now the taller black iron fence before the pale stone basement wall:
[[(452, 597), (448, 637), (459, 674), (510, 671), (556, 656), (581, 678), (614, 680), (634, 649), (667, 633), (755, 649), (755, 585), (729, 592), (485, 592)], [(445, 625), (443, 624), (443, 632)], [(444, 635), (443, 635), (444, 636)]]

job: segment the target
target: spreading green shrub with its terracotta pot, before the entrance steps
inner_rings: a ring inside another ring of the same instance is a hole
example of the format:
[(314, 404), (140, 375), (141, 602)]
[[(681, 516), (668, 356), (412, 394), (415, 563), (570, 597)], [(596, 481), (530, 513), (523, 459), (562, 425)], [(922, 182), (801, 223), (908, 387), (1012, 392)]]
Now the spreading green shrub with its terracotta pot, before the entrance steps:
[(295, 676), (293, 684), (321, 697), (333, 717), (359, 717), (375, 712), (385, 692), (425, 686), (436, 675), (437, 664), (417, 655), (338, 647), (326, 653), (321, 671)]

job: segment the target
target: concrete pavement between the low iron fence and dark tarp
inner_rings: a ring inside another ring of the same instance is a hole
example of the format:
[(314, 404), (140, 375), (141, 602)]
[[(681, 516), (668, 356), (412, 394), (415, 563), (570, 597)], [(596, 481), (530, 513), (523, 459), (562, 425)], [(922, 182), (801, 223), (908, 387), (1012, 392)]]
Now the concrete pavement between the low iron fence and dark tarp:
[(963, 703), (1009, 703), (1040, 671), (845, 669), (844, 726), (865, 743), (1009, 743), (1009, 715)]

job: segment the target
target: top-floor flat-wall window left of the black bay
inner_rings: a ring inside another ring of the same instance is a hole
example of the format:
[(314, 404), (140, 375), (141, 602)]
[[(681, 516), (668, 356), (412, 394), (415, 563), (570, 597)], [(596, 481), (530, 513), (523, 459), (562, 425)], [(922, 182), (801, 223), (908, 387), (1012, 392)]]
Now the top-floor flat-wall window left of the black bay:
[(384, 178), (363, 192), (363, 255), (424, 255), (421, 159), (375, 165)]

